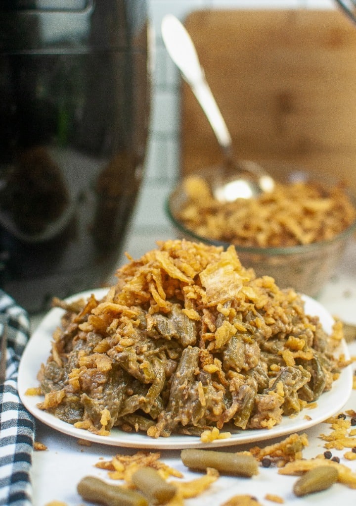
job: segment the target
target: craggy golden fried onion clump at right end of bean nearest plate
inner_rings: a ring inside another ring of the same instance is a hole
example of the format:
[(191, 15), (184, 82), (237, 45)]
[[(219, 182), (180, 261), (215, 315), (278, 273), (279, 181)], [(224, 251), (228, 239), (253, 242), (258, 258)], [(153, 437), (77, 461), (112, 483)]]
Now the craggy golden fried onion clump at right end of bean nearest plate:
[(307, 434), (291, 434), (282, 441), (260, 448), (250, 448), (250, 453), (261, 462), (264, 457), (269, 457), (278, 467), (284, 466), (286, 462), (300, 459), (302, 450), (308, 446)]

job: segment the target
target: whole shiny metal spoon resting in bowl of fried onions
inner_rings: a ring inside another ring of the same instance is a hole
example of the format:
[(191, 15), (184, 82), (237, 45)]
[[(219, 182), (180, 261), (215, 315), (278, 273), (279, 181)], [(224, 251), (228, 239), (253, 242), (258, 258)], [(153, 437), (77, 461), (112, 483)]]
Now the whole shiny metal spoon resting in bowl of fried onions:
[(208, 85), (193, 44), (182, 23), (168, 14), (162, 20), (166, 49), (205, 112), (224, 155), (224, 182), (215, 181), (213, 193), (222, 202), (256, 197), (274, 188), (274, 180), (258, 163), (234, 161), (232, 139)]

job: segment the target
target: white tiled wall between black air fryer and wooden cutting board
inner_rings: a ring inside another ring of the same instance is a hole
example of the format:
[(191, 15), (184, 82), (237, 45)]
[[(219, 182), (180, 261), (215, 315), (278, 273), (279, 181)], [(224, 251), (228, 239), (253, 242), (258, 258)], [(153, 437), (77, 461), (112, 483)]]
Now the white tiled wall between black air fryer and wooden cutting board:
[[(163, 44), (163, 17), (171, 13), (184, 22), (191, 12), (201, 9), (326, 10), (336, 9), (336, 4), (333, 0), (148, 0), (148, 8), (154, 57), (146, 168), (124, 247), (134, 258), (154, 248), (156, 240), (168, 239), (174, 234), (164, 212), (164, 203), (177, 179), (181, 163), (180, 75)], [(219, 97), (216, 98), (219, 102)], [(213, 133), (211, 136), (214, 143)], [(120, 259), (119, 263), (124, 260)]]

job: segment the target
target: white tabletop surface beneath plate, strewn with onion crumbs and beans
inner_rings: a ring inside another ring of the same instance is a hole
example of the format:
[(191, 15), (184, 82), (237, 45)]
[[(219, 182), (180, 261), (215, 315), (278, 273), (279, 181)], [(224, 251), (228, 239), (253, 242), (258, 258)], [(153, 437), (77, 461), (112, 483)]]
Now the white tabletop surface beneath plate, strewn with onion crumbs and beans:
[[(329, 312), (348, 323), (356, 324), (356, 243), (353, 243), (346, 252), (343, 263), (336, 275), (328, 283), (319, 297)], [(356, 342), (349, 345), (351, 355), (356, 355)], [(356, 410), (356, 391), (353, 391), (344, 409)], [(308, 414), (312, 415), (310, 411)], [(326, 423), (319, 424), (307, 430), (309, 446), (304, 449), (303, 456), (314, 457), (325, 451), (324, 442), (318, 437), (321, 433), (330, 430)], [(62, 501), (67, 506), (79, 506), (83, 500), (76, 491), (77, 483), (84, 476), (91, 475), (107, 479), (107, 473), (94, 467), (100, 457), (111, 459), (117, 453), (133, 453), (135, 449), (125, 449), (93, 443), (91, 446), (82, 446), (78, 440), (61, 434), (42, 423), (36, 423), (36, 441), (46, 445), (45, 451), (36, 451), (33, 456), (33, 504), (45, 506), (51, 501)], [(270, 441), (259, 443), (260, 446), (270, 444)], [(247, 445), (255, 446), (255, 443)], [(240, 450), (234, 447), (234, 451)], [(243, 448), (245, 449), (245, 447)], [(226, 448), (225, 448), (226, 450)], [(232, 450), (230, 448), (230, 450)], [(356, 473), (356, 460), (348, 461), (343, 457), (344, 451), (332, 450), (333, 455), (340, 457)], [(169, 462), (172, 467), (180, 470), (185, 478), (199, 476), (187, 472), (180, 460), (177, 450), (165, 450), (161, 458)], [(256, 496), (266, 506), (275, 504), (265, 499), (266, 494), (278, 494), (284, 499), (286, 506), (312, 506), (321, 502), (325, 506), (335, 506), (335, 503), (356, 503), (356, 490), (347, 488), (339, 483), (331, 489), (303, 498), (297, 498), (292, 493), (292, 486), (296, 478), (278, 475), (275, 468), (260, 468), (258, 476), (251, 479), (220, 477), (211, 487), (195, 499), (186, 500), (187, 506), (218, 506), (235, 494), (248, 493)], [(119, 482), (120, 483), (120, 482)]]

